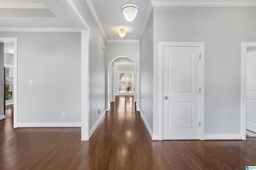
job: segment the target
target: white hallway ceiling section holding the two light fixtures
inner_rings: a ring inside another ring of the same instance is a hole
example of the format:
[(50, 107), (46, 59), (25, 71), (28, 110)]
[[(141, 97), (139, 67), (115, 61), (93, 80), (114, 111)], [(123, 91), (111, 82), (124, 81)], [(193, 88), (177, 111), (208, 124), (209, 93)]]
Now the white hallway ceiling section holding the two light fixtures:
[[(107, 40), (139, 40), (146, 25), (150, 8), (150, 0), (134, 0), (138, 6), (136, 18), (129, 22), (121, 14), (125, 0), (90, 0), (96, 14), (102, 24)], [(130, 0), (126, 2), (128, 4)], [(118, 32), (123, 28), (126, 36), (118, 36)]]

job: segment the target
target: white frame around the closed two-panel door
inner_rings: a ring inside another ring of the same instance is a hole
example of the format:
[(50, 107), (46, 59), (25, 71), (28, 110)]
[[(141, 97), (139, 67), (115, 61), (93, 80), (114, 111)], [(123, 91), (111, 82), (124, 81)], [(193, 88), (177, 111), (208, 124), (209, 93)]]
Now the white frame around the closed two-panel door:
[(200, 140), (204, 140), (204, 42), (159, 42), (158, 44), (158, 140), (163, 140), (163, 49), (170, 46), (200, 47)]

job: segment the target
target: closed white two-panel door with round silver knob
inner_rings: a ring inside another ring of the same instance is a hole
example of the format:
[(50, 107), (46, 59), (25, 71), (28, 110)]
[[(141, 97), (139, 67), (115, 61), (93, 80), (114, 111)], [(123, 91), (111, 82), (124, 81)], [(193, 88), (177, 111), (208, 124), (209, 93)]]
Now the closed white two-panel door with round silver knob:
[(200, 47), (163, 49), (163, 139), (200, 138)]

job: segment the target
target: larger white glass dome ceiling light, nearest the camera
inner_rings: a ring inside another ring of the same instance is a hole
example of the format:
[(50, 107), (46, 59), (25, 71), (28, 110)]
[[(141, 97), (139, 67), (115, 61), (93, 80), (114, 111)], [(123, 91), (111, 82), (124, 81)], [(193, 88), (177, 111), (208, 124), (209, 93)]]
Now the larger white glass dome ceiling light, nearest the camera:
[[(124, 2), (124, 4), (126, 3), (126, 1)], [(134, 20), (137, 12), (138, 12), (138, 6), (134, 5), (134, 2), (132, 0), (130, 0), (130, 4), (123, 5), (122, 14), (124, 15), (127, 21)]]

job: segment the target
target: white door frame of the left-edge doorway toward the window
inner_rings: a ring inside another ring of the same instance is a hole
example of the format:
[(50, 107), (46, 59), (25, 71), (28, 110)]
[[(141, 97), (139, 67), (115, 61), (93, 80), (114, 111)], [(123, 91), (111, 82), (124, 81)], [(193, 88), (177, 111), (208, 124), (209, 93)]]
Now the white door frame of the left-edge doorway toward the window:
[(14, 104), (14, 108), (13, 108), (13, 127), (16, 128), (17, 127), (17, 121), (18, 121), (18, 100), (17, 100), (17, 96), (18, 96), (18, 70), (17, 70), (17, 66), (18, 66), (18, 38), (0, 38), (0, 42), (12, 42), (14, 44), (14, 55), (13, 55), (13, 65), (14, 65), (14, 83), (13, 83), (13, 90), (14, 90), (14, 94), (13, 94), (13, 104)]

